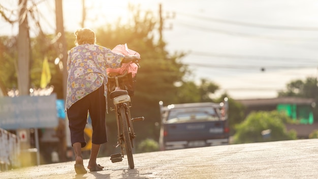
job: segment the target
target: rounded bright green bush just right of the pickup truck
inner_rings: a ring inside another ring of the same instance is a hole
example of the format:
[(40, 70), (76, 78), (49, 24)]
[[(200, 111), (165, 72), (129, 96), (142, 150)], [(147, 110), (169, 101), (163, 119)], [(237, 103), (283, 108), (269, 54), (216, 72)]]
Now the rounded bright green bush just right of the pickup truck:
[[(297, 139), (295, 131), (287, 131), (286, 123), (292, 123), (290, 117), (277, 111), (251, 112), (243, 123), (236, 126), (234, 143), (251, 143)], [(262, 135), (262, 131), (270, 130), (270, 136)]]

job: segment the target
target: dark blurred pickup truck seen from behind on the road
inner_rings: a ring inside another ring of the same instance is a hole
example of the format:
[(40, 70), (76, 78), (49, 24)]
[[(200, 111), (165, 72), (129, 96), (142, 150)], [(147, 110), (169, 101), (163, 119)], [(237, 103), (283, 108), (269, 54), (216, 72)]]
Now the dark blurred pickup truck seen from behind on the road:
[(159, 105), (162, 151), (229, 144), (228, 98), (221, 103)]

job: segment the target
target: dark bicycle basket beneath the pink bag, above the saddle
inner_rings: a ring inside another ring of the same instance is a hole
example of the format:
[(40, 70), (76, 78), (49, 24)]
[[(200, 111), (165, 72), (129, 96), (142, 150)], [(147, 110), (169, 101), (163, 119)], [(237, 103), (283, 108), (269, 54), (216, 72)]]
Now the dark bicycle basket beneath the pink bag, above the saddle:
[[(121, 90), (127, 90), (129, 96), (134, 96), (136, 83), (136, 74), (128, 73), (123, 77), (118, 77), (118, 84)], [(116, 88), (116, 79), (108, 78), (107, 82), (108, 95), (113, 92)]]

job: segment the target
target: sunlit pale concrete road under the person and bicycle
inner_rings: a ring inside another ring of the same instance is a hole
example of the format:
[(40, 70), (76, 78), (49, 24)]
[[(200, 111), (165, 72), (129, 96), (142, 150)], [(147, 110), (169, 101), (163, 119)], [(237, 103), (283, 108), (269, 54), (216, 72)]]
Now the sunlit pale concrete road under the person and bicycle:
[[(74, 162), (40, 165), (0, 173), (0, 178), (318, 178), (318, 139), (222, 145), (135, 154), (104, 170), (78, 175)], [(84, 160), (87, 166), (88, 160)]]

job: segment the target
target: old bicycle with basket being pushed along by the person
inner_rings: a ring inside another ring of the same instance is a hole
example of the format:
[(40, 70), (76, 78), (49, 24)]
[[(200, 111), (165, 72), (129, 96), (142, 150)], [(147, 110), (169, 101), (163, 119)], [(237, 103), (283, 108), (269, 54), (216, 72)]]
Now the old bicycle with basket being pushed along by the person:
[[(134, 63), (138, 65), (138, 61)], [(135, 79), (136, 76), (133, 77), (132, 73), (108, 75), (108, 86), (111, 91), (109, 97), (114, 104), (114, 108), (111, 107), (110, 109), (115, 111), (118, 132), (117, 145), (115, 147), (121, 147), (121, 153), (112, 154), (110, 160), (112, 163), (121, 162), (125, 151), (131, 169), (135, 167), (132, 148), (134, 147), (133, 139), (136, 137), (132, 122), (144, 121), (145, 119), (143, 116), (131, 118), (131, 96), (134, 95)]]

